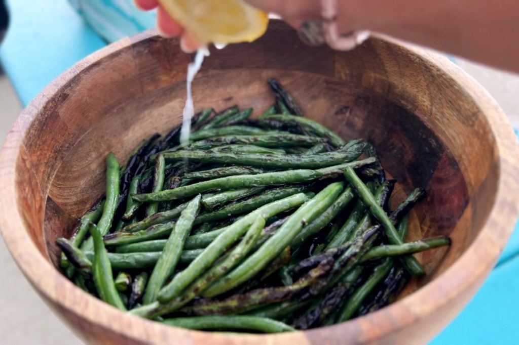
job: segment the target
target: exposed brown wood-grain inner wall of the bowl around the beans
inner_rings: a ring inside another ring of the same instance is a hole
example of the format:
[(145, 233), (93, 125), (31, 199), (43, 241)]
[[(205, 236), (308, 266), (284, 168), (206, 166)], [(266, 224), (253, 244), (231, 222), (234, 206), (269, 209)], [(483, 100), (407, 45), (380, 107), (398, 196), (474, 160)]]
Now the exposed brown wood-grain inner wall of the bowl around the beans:
[[(39, 251), (57, 264), (55, 240), (104, 192), (104, 159), (124, 161), (142, 139), (180, 123), (190, 57), (159, 37), (75, 68), (76, 77), (30, 124), (17, 162), (19, 205)], [(442, 71), (408, 50), (368, 40), (351, 52), (302, 45), (279, 22), (253, 44), (212, 50), (193, 84), (197, 109), (237, 104), (262, 113), (277, 78), (305, 116), (346, 139), (374, 143), (399, 181), (397, 205), (413, 188), (427, 198), (412, 215), (409, 239), (449, 235), (449, 250), (418, 255), (435, 279), (468, 248), (493, 205), (499, 174), (496, 143), (481, 109)], [(49, 90), (47, 90), (49, 91)]]

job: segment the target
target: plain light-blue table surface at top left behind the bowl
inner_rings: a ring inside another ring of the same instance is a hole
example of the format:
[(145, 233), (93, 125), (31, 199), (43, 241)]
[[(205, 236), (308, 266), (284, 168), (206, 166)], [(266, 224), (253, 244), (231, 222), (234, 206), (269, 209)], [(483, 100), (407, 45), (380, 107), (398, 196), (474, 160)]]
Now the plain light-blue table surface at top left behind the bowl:
[(106, 43), (66, 0), (7, 0), (10, 25), (0, 61), (21, 103)]

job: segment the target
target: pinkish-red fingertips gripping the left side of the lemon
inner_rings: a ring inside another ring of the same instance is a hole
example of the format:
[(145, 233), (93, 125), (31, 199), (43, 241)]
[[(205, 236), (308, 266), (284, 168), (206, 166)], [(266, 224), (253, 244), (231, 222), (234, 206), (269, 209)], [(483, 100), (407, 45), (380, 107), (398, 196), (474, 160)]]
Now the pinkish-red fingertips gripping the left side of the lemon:
[(159, 5), (157, 0), (134, 0), (135, 6), (149, 11), (157, 8), (157, 30), (163, 37), (180, 36), (180, 47), (186, 53), (192, 53), (198, 49), (197, 42), (173, 19), (166, 10)]

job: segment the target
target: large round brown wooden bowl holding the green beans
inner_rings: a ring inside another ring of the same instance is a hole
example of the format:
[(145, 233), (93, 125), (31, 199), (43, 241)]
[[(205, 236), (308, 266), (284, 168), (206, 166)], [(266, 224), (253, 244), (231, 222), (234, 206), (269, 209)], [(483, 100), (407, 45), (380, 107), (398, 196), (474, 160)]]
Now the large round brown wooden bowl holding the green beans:
[(278, 335), (193, 332), (124, 314), (84, 293), (57, 266), (59, 236), (104, 191), (105, 156), (124, 161), (154, 132), (180, 122), (191, 56), (153, 32), (88, 56), (23, 111), (0, 157), (0, 226), (46, 303), (89, 343), (421, 343), (468, 303), (517, 219), (517, 143), (493, 99), (442, 57), (380, 39), (350, 52), (309, 48), (281, 22), (253, 44), (213, 50), (194, 82), (196, 108), (238, 104), (257, 113), (276, 77), (306, 115), (345, 138), (374, 142), (385, 168), (427, 199), (411, 238), (450, 235), (418, 256), (428, 275), (405, 297), (331, 327)]

